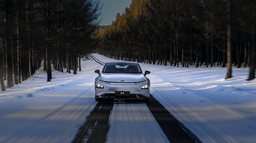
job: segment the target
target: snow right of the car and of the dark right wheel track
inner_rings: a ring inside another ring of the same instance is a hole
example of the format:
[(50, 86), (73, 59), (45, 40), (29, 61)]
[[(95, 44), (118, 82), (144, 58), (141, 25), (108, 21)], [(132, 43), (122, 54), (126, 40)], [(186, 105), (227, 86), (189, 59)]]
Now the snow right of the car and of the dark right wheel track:
[[(115, 61), (93, 54), (99, 61)], [(249, 68), (170, 67), (140, 63), (150, 70), (151, 94), (203, 143), (254, 143), (256, 79)]]

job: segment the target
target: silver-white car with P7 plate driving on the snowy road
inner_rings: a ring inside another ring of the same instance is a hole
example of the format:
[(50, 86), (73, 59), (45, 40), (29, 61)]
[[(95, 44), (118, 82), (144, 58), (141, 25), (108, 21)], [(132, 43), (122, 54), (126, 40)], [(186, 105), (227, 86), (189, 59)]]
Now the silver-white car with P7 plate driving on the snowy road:
[(106, 62), (102, 72), (95, 79), (95, 100), (132, 99), (149, 101), (150, 71), (143, 71), (137, 62)]

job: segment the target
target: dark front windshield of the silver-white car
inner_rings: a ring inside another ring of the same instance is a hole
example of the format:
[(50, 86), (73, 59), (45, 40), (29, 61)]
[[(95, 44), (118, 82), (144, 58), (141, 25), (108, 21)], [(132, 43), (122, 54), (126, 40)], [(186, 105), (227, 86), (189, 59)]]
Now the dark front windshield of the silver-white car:
[(111, 63), (106, 64), (103, 73), (142, 73), (138, 64)]

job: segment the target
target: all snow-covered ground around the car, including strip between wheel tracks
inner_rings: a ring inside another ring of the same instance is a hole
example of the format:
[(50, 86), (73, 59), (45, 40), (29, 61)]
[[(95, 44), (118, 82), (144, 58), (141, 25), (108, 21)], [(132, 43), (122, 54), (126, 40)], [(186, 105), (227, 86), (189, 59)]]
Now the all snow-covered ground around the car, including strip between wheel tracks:
[[(77, 75), (53, 71), (46, 82), (39, 69), (0, 92), (0, 142), (70, 143), (97, 104), (94, 70), (103, 67), (93, 60), (81, 64)], [(234, 67), (233, 78), (224, 79), (227, 69), (217, 66), (140, 65), (151, 71), (151, 94), (203, 143), (255, 143), (256, 80), (246, 81), (249, 68)], [(115, 103), (109, 123), (108, 143), (169, 142), (144, 103)]]

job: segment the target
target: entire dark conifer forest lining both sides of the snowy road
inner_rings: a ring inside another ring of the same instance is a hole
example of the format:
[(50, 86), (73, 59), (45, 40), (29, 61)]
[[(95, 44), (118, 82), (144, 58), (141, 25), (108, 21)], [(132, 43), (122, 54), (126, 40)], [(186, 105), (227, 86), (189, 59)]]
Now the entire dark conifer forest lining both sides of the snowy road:
[[(44, 61), (60, 72), (82, 58), (170, 66), (250, 67), (255, 78), (256, 0), (132, 0), (111, 25), (99, 26), (98, 0), (0, 0), (2, 90), (21, 83)], [(169, 63), (169, 64), (167, 64)], [(63, 71), (65, 69), (65, 71)]]

